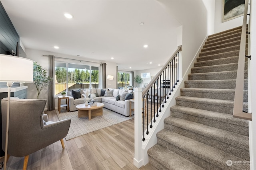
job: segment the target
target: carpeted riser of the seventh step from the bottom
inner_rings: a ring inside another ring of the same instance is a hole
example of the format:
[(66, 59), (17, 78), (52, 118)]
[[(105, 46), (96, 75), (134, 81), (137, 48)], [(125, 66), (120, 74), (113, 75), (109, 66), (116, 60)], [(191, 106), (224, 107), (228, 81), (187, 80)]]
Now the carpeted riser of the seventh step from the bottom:
[[(247, 90), (247, 80), (244, 82), (244, 90)], [(199, 82), (185, 81), (185, 88), (217, 88), (217, 89), (235, 89), (236, 81), (216, 81), (216, 82)]]

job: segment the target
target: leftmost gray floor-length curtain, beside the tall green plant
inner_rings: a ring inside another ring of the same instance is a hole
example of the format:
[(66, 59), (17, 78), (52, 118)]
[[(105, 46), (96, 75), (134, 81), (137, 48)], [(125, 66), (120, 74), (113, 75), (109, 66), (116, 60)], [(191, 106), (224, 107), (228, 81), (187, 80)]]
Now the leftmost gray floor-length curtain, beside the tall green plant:
[(55, 81), (55, 63), (54, 63), (55, 57), (54, 55), (49, 55), (49, 76), (52, 78), (52, 82), (50, 82), (50, 86), (48, 86), (48, 111), (55, 109), (55, 102), (54, 102), (54, 81)]

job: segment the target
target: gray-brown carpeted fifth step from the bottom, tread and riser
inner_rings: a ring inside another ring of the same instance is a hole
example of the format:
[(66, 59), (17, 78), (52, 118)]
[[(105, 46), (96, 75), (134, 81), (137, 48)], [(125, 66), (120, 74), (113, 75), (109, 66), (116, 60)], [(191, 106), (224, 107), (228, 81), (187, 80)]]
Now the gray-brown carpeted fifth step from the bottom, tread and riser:
[[(233, 114), (234, 101), (178, 96), (176, 97), (176, 105)], [(246, 109), (248, 109), (248, 103), (244, 102), (244, 110), (246, 111)]]

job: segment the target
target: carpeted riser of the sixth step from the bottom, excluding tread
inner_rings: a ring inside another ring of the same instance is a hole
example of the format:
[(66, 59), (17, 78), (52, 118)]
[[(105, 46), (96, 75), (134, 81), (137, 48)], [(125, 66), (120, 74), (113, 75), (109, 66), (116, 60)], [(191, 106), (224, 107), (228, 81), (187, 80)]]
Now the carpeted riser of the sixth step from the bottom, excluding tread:
[[(235, 94), (232, 93), (213, 93), (213, 92), (194, 92), (194, 91), (180, 91), (180, 96), (189, 96), (189, 97), (196, 97), (196, 98), (209, 98), (209, 99), (219, 99), (219, 100), (234, 100)], [(248, 91), (244, 90), (244, 102), (248, 102)]]

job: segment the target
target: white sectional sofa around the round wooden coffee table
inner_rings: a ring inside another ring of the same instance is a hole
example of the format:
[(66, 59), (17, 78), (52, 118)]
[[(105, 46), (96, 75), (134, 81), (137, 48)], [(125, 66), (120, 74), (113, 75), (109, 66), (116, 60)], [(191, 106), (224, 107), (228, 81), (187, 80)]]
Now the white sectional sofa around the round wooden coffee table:
[[(125, 116), (130, 116), (130, 100), (124, 100), (124, 101), (120, 101), (120, 100), (116, 100), (116, 96), (118, 96), (118, 94), (120, 96), (122, 96), (124, 93), (132, 93), (132, 90), (119, 90), (119, 89), (103, 89), (103, 90), (108, 90), (108, 91), (113, 91), (112, 96), (111, 97), (106, 97), (106, 96), (100, 96), (102, 89), (97, 88), (97, 89), (91, 89), (91, 93), (92, 94), (99, 94), (99, 97), (95, 98), (95, 102), (101, 102), (104, 104), (104, 107), (107, 109), (110, 109), (112, 111), (115, 111), (117, 113), (120, 113), (122, 115)], [(82, 92), (81, 92), (82, 94)], [(74, 97), (72, 97), (72, 93), (68, 92), (68, 96), (69, 96), (69, 110), (70, 111), (76, 111), (76, 106), (78, 104), (83, 104), (84, 99), (83, 98), (77, 98), (74, 99)], [(123, 95), (124, 96), (124, 95)], [(134, 102), (132, 103), (132, 109), (134, 108)], [(134, 115), (134, 111), (132, 111), (132, 115)]]

